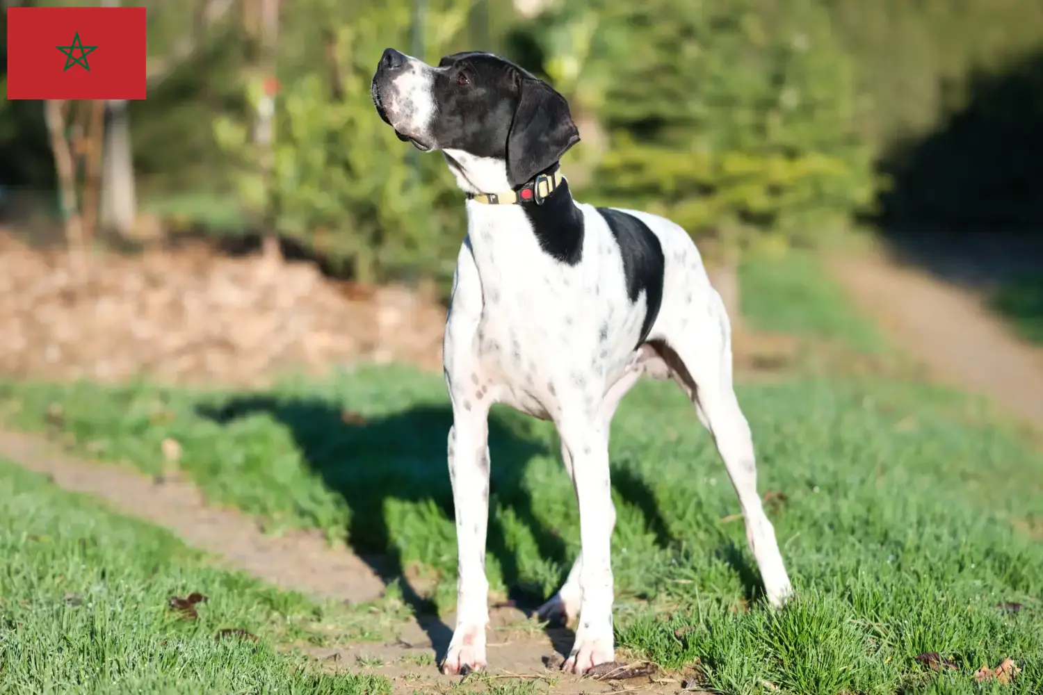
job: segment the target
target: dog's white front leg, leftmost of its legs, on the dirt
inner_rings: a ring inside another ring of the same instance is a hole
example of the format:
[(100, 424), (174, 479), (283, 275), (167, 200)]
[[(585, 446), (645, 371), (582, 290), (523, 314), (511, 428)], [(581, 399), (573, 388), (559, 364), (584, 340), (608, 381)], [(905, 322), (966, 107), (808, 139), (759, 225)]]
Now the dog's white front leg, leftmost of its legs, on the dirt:
[(485, 535), (489, 517), (488, 408), (482, 401), (453, 397), (448, 436), (450, 480), (457, 526), (457, 624), (442, 672), (462, 674), (485, 668), (489, 582), (485, 576)]

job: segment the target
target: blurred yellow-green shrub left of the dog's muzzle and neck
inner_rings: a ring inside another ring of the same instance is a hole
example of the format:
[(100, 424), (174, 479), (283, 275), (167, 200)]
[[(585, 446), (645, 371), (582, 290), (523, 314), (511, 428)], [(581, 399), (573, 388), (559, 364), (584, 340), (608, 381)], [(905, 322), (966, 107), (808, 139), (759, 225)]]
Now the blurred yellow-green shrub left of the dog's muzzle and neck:
[[(241, 119), (218, 118), (215, 136), (238, 162), (243, 205), (274, 210), (278, 231), (341, 260), (363, 281), (410, 269), (444, 278), (463, 235), (459, 195), (437, 154), (416, 157), (415, 170), (409, 165), (410, 150), (377, 117), (369, 93), (383, 49), (408, 45), (412, 0), (356, 6), (350, 20), (343, 9), (336, 0), (298, 0), (290, 13), (307, 17), (314, 33), (288, 35), (284, 54), (300, 55), (304, 42), (328, 63), (297, 72), (280, 93), (271, 188)], [(448, 52), (470, 9), (468, 0), (432, 2), (423, 16), (427, 52)], [(262, 94), (261, 81), (248, 83), (250, 103)]]

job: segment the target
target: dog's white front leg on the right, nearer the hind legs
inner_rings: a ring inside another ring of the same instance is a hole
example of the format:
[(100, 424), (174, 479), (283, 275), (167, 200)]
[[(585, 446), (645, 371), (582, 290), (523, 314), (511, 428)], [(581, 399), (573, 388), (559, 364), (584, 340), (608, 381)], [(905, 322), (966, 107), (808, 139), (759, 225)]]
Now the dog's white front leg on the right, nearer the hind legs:
[(576, 642), (562, 667), (585, 673), (613, 661), (611, 538), (614, 510), (609, 487), (608, 428), (600, 417), (563, 422), (558, 427), (568, 448), (580, 507), (582, 591)]

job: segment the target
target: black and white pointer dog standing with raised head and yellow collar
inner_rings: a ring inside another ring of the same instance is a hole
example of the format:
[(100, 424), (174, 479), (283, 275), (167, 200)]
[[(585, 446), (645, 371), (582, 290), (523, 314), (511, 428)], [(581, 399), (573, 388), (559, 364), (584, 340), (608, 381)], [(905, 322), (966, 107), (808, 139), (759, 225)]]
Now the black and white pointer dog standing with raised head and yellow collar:
[(442, 670), (486, 665), (492, 403), (555, 423), (576, 489), (582, 550), (539, 611), (579, 618), (563, 668), (583, 673), (613, 660), (608, 433), (620, 399), (645, 373), (676, 380), (712, 433), (767, 596), (780, 605), (790, 578), (732, 390), (728, 316), (688, 234), (655, 215), (573, 200), (558, 171), (580, 139), (568, 104), (504, 58), (457, 53), (435, 68), (389, 48), (371, 90), (398, 138), (441, 150), (467, 194), (443, 343), (459, 579)]

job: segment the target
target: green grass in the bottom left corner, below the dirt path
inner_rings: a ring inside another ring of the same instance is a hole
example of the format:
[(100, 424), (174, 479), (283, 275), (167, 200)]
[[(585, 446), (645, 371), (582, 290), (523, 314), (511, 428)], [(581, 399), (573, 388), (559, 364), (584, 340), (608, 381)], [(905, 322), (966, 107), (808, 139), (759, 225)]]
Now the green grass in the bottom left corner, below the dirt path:
[[(0, 692), (390, 693), (280, 655), (334, 621), (302, 596), (214, 569), (163, 529), (0, 462)], [(168, 609), (201, 592), (198, 619)], [(224, 628), (248, 640), (216, 641)]]

